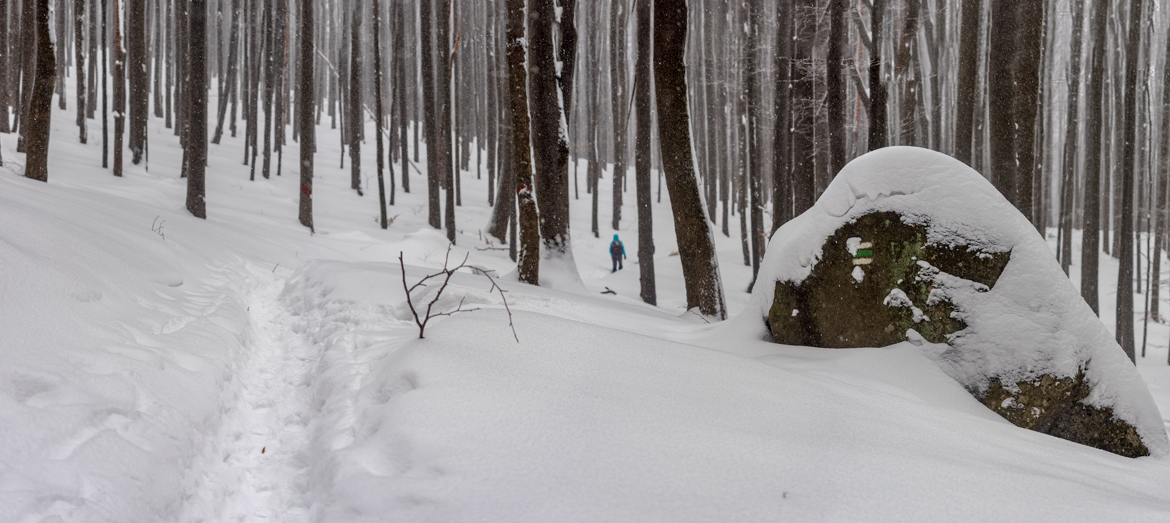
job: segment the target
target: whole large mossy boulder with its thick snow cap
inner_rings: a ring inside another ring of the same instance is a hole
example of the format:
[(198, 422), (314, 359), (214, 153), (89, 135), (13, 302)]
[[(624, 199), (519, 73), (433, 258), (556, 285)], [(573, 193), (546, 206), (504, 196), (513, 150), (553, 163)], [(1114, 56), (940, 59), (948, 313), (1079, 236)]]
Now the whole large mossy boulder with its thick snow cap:
[(1126, 456), (1168, 452), (1136, 369), (1051, 249), (983, 177), (887, 147), (772, 238), (746, 314), (772, 339), (918, 345), (1017, 426)]

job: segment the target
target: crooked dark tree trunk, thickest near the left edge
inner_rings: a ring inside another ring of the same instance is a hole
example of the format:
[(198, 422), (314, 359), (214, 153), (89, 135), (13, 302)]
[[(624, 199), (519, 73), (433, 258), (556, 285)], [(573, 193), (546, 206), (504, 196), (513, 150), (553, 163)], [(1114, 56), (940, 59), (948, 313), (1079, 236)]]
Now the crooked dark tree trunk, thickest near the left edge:
[(22, 16), (32, 19), (29, 26), (36, 39), (36, 68), (29, 92), (25, 146), (25, 176), (34, 180), (49, 181), (49, 118), (53, 111), (53, 89), (56, 87), (57, 63), (49, 40), (49, 0), (37, 0), (35, 14), (26, 11)]

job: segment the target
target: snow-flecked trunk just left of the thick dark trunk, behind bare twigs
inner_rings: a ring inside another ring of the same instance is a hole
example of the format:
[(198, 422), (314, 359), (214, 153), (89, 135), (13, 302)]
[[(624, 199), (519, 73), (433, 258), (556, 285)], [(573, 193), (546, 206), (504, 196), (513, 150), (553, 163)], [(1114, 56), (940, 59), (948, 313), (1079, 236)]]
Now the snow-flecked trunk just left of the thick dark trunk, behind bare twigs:
[(536, 200), (532, 198), (532, 164), (529, 157), (528, 87), (524, 83), (524, 0), (508, 1), (508, 91), (512, 125), (511, 172), (516, 177), (516, 198), (519, 207), (519, 241), (517, 243), (517, 273), (519, 281), (541, 284), (541, 232)]

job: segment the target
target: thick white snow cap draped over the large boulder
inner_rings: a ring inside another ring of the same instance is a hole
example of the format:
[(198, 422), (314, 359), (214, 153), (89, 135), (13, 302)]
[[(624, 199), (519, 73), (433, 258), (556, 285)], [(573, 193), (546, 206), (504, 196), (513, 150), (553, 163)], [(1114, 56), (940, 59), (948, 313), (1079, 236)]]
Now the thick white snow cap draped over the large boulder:
[[(799, 285), (828, 254), (823, 252), (830, 245), (826, 239), (875, 213), (896, 213), (909, 226), (925, 227), (927, 247), (957, 246), (983, 257), (991, 254), (978, 253), (1010, 253), (990, 290), (979, 283), (948, 284), (944, 278), (957, 278), (945, 271), (934, 280), (954, 302), (956, 312), (950, 317), (962, 322), (962, 330), (948, 333), (947, 344), (917, 340), (948, 374), (977, 397), (987, 397), (989, 391), (1004, 388), (1018, 393), (1016, 384), (1039, 384), (1044, 377), (1079, 381), (1083, 372), (1089, 387), (1085, 405), (1112, 410), (1116, 419), (1136, 428), (1151, 454), (1166, 454), (1166, 433), (1145, 384), (1060, 270), (1035, 227), (986, 179), (938, 152), (886, 147), (846, 165), (815, 206), (775, 234), (760, 266), (760, 283), (734, 323), (770, 336), (764, 318), (773, 304), (772, 283)], [(868, 267), (866, 260), (858, 263)], [(854, 270), (853, 277), (863, 276)], [(792, 315), (798, 312), (793, 309)], [(914, 322), (921, 319), (916, 316)], [(1005, 408), (1010, 399), (1004, 400)]]

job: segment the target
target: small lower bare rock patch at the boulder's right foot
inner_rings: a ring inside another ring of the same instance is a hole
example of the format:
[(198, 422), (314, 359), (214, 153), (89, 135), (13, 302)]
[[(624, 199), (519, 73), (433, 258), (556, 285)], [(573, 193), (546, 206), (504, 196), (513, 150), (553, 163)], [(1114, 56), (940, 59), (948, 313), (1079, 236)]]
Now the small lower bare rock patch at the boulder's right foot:
[(1072, 378), (1041, 376), (1004, 386), (993, 379), (979, 401), (1016, 426), (1054, 435), (1127, 457), (1150, 455), (1137, 429), (1112, 408), (1081, 402), (1089, 395), (1085, 372)]

